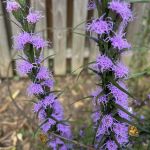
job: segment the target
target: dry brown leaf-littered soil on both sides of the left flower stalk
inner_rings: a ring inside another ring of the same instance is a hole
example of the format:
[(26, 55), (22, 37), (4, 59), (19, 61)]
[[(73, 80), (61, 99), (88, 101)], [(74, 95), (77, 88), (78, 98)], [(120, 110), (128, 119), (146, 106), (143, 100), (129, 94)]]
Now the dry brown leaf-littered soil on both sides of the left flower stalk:
[[(89, 121), (91, 99), (80, 99), (90, 94), (94, 78), (83, 74), (78, 80), (70, 75), (55, 79), (56, 90), (64, 91), (60, 101), (65, 109), (65, 118), (76, 130), (75, 124), (80, 127)], [(18, 77), (0, 83), (0, 150), (43, 149), (39, 136), (34, 136), (38, 122), (32, 111), (32, 98), (26, 94), (29, 83), (27, 79)]]

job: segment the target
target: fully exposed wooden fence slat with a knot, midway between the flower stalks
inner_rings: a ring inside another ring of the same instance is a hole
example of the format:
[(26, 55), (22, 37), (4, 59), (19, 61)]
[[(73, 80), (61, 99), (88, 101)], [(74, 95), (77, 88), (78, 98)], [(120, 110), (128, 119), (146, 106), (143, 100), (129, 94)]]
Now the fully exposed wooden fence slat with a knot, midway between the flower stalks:
[(53, 43), (54, 72), (57, 75), (66, 73), (66, 10), (67, 0), (52, 0), (53, 8)]

